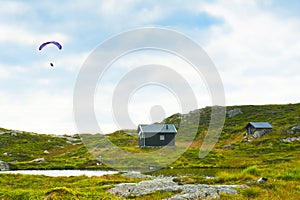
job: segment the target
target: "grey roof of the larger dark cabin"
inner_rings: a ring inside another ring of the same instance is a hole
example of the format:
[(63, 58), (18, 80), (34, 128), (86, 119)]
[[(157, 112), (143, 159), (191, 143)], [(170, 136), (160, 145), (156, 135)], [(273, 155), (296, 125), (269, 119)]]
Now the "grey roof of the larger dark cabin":
[(144, 133), (176, 133), (177, 130), (174, 124), (140, 124), (139, 128)]

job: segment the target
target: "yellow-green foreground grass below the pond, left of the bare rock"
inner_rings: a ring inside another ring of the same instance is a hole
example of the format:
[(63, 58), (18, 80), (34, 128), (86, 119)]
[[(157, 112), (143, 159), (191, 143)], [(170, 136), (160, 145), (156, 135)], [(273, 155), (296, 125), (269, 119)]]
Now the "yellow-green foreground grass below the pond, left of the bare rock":
[(0, 199), (119, 199), (107, 189), (113, 184), (138, 180), (120, 175), (62, 178), (0, 174)]

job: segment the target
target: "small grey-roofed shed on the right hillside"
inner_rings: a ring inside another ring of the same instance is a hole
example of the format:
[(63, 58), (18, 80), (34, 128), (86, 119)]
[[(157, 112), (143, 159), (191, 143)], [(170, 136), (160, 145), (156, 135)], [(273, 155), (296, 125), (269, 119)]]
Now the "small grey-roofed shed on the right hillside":
[(272, 131), (273, 126), (269, 122), (249, 122), (246, 126), (246, 135), (261, 137), (265, 133)]

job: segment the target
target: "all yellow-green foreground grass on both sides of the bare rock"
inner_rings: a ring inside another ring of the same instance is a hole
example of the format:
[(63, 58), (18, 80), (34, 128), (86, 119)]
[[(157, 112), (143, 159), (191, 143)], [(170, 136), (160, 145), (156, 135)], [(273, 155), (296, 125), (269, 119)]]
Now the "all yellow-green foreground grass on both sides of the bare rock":
[[(299, 177), (285, 180), (291, 168), (299, 161), (276, 164), (273, 168), (248, 167), (240, 170), (216, 169), (214, 179), (207, 179), (201, 173), (174, 179), (179, 184), (241, 184), (248, 188), (238, 189), (235, 195), (221, 193), (221, 199), (297, 199), (300, 195)], [(182, 169), (184, 171), (185, 169)], [(299, 168), (297, 169), (299, 170)], [(177, 171), (178, 172), (178, 171)], [(174, 173), (177, 173), (176, 171)], [(297, 174), (298, 172), (292, 172)], [(257, 183), (259, 177), (268, 177), (265, 184)], [(107, 190), (114, 184), (138, 182), (116, 175), (103, 177), (46, 177), (40, 175), (0, 174), (0, 199), (121, 199)], [(178, 191), (180, 192), (180, 191)], [(177, 193), (178, 193), (177, 192)], [(141, 197), (127, 199), (162, 199), (176, 192), (156, 191)]]

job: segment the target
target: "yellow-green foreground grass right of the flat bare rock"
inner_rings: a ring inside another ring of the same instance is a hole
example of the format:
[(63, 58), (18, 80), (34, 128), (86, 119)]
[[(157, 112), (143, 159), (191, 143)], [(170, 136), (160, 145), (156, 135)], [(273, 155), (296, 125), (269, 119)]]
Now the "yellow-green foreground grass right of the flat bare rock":
[[(221, 193), (221, 199), (299, 199), (299, 164), (292, 161), (268, 167), (251, 166), (246, 169), (216, 169), (214, 179), (201, 174), (176, 178), (179, 184), (239, 184), (248, 188), (239, 189), (236, 195)], [(264, 184), (257, 183), (260, 177), (267, 177)]]

